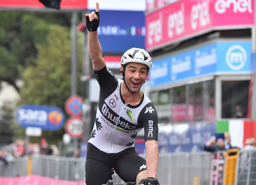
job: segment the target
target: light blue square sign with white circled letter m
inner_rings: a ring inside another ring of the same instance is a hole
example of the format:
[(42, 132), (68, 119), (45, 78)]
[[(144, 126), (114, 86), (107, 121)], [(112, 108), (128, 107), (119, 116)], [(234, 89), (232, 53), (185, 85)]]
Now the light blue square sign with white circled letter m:
[(217, 70), (248, 72), (251, 70), (251, 41), (218, 43)]

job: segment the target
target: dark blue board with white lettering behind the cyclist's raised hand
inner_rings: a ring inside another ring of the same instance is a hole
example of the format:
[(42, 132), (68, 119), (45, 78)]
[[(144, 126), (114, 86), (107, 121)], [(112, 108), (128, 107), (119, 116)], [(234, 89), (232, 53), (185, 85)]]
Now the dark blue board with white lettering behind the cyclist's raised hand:
[(143, 11), (100, 10), (98, 35), (103, 53), (124, 53), (130, 48), (144, 48), (145, 34)]

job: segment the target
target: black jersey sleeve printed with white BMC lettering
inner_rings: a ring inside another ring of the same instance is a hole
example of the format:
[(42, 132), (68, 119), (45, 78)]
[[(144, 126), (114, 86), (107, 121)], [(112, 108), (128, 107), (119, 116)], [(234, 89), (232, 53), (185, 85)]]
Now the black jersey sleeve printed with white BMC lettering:
[(145, 142), (148, 140), (158, 141), (158, 116), (156, 108), (152, 102), (146, 104), (142, 109), (138, 121), (144, 126)]

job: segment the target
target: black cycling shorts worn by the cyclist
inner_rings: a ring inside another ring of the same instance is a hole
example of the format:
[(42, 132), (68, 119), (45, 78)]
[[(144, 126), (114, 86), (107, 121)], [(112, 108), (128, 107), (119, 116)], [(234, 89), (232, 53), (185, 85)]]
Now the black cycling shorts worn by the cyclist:
[[(85, 161), (85, 184), (102, 185), (112, 180), (110, 168), (124, 182), (136, 182), (137, 175), (147, 170), (146, 160), (135, 152), (134, 147), (108, 154), (88, 143)], [(114, 182), (115, 183), (115, 182)]]

